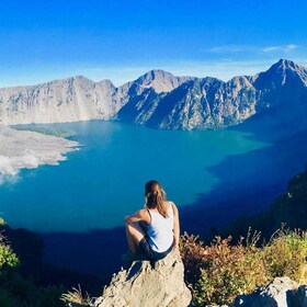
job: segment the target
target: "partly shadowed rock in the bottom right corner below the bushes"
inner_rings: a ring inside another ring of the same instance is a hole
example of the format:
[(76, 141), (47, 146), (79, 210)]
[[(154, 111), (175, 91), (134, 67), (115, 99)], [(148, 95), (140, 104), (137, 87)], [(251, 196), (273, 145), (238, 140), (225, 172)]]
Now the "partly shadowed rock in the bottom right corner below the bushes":
[(231, 307), (307, 307), (306, 286), (297, 287), (289, 277), (276, 277), (250, 295), (238, 296)]

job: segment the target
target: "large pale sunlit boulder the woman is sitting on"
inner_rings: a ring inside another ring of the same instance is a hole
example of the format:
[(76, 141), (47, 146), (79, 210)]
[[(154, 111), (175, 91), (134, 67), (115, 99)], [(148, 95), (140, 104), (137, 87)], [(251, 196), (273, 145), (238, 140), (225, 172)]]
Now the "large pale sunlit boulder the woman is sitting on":
[(113, 276), (95, 307), (186, 307), (192, 296), (184, 284), (183, 263), (178, 250), (150, 263), (135, 261)]

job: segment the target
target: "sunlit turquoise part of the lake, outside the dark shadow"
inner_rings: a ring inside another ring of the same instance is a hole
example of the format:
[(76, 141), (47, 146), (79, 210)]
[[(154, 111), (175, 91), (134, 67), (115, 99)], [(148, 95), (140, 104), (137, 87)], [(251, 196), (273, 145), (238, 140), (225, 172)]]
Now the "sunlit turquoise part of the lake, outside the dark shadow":
[(235, 130), (157, 130), (116, 122), (45, 126), (73, 132), (80, 150), (57, 167), (23, 170), (15, 183), (0, 185), (8, 224), (43, 232), (121, 226), (144, 205), (150, 179), (179, 206), (189, 205), (218, 183), (208, 167), (268, 146)]

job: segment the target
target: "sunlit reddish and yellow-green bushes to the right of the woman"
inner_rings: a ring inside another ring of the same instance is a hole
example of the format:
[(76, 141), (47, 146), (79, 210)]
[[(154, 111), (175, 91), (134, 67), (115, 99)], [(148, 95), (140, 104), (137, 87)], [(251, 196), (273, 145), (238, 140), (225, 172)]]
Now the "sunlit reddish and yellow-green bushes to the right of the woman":
[(277, 276), (307, 283), (307, 232), (281, 229), (262, 247), (259, 239), (260, 232), (249, 232), (237, 246), (231, 237), (205, 246), (195, 236), (181, 238), (185, 281), (196, 306), (230, 304)]

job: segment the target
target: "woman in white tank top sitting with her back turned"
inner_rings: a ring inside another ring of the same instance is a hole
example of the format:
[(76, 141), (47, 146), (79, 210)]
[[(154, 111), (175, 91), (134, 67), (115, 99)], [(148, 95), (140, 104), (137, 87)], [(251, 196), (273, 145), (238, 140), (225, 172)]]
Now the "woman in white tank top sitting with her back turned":
[(179, 213), (172, 202), (167, 202), (166, 192), (156, 180), (145, 185), (145, 207), (125, 217), (129, 253), (124, 262), (139, 255), (157, 261), (163, 259), (179, 245)]

